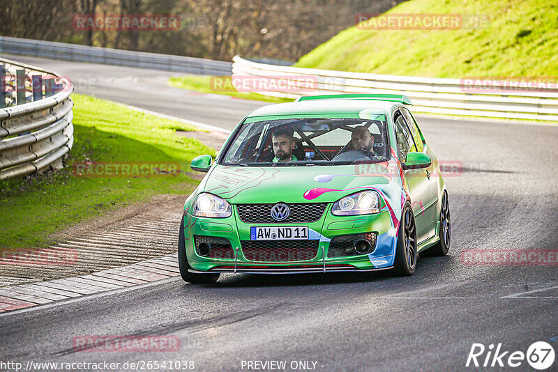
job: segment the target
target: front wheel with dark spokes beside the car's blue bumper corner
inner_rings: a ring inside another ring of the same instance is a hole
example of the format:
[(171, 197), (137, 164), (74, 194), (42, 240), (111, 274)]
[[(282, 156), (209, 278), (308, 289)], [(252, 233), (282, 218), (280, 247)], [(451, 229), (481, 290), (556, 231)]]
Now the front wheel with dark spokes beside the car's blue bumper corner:
[(397, 235), (397, 249), (395, 249), (395, 263), (393, 273), (398, 276), (409, 276), (416, 269), (416, 226), (413, 210), (409, 204), (403, 208), (399, 231)]

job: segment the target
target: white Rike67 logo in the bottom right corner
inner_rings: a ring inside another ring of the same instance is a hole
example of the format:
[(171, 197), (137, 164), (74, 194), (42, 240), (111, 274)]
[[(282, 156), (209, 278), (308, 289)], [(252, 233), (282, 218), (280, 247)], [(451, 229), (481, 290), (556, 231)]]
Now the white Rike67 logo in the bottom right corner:
[(517, 368), (522, 366), (521, 370), (525, 371), (525, 361), (539, 371), (550, 368), (555, 361), (555, 351), (550, 343), (537, 341), (533, 343), (527, 352), (504, 350), (502, 343), (498, 343), (495, 347), (491, 343), (488, 348), (482, 343), (474, 343), (467, 357), (466, 367), (511, 367)]

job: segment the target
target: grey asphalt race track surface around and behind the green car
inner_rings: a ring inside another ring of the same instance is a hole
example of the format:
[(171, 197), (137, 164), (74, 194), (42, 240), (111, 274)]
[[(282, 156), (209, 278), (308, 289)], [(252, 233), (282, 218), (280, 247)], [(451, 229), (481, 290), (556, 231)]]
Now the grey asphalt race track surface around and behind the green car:
[[(169, 88), (168, 72), (17, 59), (96, 82), (76, 84), (77, 93), (225, 128), (262, 104)], [(195, 371), (308, 360), (316, 371), (465, 371), (473, 343), (526, 352), (546, 341), (558, 352), (557, 265), (460, 259), (466, 249), (557, 249), (558, 127), (432, 118), (419, 124), (439, 159), (461, 162), (463, 171), (446, 177), (451, 250), (419, 258), (413, 277), (222, 274), (212, 285), (167, 279), (0, 315), (0, 360), (186, 360)], [(75, 336), (107, 334), (178, 336), (180, 349), (73, 349)], [(534, 371), (525, 361), (504, 370)]]

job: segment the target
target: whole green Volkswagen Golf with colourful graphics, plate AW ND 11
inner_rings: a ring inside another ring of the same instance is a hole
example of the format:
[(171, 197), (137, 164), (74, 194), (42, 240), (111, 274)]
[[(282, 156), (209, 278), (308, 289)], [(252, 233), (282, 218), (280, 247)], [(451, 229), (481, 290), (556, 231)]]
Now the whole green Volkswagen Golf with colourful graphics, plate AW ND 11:
[(319, 95), (250, 112), (184, 204), (181, 277), (393, 270), (450, 246), (448, 192), (405, 95)]

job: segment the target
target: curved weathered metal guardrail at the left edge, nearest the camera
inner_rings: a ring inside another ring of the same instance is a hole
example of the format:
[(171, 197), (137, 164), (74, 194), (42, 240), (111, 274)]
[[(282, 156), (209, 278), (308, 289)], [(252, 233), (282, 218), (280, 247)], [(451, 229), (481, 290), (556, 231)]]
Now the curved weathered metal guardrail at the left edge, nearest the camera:
[(74, 139), (72, 91), (54, 72), (0, 59), (0, 180), (61, 168)]

